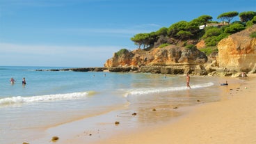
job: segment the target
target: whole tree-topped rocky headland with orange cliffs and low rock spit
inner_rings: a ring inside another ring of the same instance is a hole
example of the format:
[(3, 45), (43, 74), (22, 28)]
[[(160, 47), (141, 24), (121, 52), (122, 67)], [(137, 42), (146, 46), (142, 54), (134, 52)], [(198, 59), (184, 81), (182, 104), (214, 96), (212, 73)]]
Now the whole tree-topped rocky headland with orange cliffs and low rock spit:
[[(232, 22), (239, 16), (240, 21)], [(256, 12), (228, 12), (221, 22), (202, 15), (151, 33), (138, 33), (131, 40), (137, 49), (120, 49), (104, 67), (63, 70), (75, 72), (151, 72), (239, 77), (256, 72)], [(58, 71), (58, 70), (52, 70)]]

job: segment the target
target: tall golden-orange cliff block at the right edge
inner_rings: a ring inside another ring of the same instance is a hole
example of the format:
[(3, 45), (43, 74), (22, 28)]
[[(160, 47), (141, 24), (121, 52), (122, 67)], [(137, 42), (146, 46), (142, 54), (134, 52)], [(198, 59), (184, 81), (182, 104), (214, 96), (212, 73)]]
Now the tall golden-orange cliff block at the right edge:
[(256, 31), (256, 25), (234, 33), (218, 43), (218, 65), (238, 72), (250, 72), (256, 67), (256, 38), (250, 34)]

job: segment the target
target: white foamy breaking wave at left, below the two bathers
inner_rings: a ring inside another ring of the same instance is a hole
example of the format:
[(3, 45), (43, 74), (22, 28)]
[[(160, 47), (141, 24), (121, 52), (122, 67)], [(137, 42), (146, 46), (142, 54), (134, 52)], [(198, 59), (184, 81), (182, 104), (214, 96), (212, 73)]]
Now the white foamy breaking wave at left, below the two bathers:
[(68, 99), (79, 99), (87, 97), (88, 95), (93, 95), (93, 91), (79, 92), (79, 93), (65, 93), (65, 94), (54, 94), (54, 95), (38, 95), (31, 97), (6, 97), (0, 99), (0, 106), (6, 106), (10, 104), (22, 104), (31, 102), (51, 102), (58, 100), (68, 100)]

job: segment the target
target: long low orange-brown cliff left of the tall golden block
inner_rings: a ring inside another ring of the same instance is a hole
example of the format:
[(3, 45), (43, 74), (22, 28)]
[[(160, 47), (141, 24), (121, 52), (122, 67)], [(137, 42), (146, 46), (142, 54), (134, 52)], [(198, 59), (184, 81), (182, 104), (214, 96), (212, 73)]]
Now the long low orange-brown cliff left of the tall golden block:
[(187, 65), (207, 62), (207, 56), (198, 49), (187, 49), (169, 45), (149, 51), (136, 49), (118, 56), (116, 53), (104, 64), (105, 67), (152, 66), (152, 65)]

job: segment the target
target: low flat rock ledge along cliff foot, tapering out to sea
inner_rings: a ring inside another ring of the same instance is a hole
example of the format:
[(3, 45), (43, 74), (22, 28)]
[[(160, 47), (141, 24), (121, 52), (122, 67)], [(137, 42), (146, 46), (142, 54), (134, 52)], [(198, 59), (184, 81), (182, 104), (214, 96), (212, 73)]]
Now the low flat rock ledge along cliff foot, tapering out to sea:
[(35, 71), (73, 71), (73, 72), (143, 72), (152, 74), (191, 74), (197, 76), (232, 76), (241, 77), (241, 72), (228, 70), (225, 67), (216, 67), (211, 63), (196, 64), (183, 63), (173, 65), (143, 65), (143, 66), (118, 66), (118, 67), (77, 67), (65, 69), (49, 69)]

